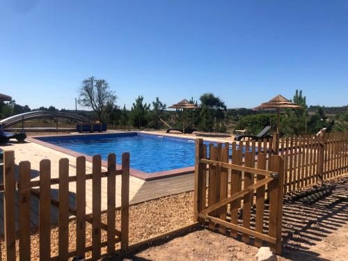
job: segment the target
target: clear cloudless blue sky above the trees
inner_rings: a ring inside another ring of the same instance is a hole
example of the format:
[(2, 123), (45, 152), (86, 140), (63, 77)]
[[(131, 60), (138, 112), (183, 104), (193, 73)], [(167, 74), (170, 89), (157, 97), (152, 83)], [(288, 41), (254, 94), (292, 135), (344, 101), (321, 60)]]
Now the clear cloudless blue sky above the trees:
[(74, 108), (87, 77), (118, 104), (212, 92), (253, 107), (302, 89), (348, 104), (348, 1), (0, 1), (0, 93)]

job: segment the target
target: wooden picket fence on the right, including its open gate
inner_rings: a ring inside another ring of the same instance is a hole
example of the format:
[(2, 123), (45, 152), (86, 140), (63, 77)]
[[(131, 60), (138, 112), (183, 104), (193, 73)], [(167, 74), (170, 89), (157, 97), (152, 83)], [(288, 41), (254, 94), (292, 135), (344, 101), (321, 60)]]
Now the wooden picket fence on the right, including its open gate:
[(348, 132), (322, 130), (286, 137), (278, 144), (270, 139), (207, 145), (198, 139), (195, 218), (209, 221), (210, 229), (228, 229), (233, 237), (242, 233), (245, 242), (253, 236), (256, 246), (268, 242), (280, 253), (283, 193), (347, 172)]

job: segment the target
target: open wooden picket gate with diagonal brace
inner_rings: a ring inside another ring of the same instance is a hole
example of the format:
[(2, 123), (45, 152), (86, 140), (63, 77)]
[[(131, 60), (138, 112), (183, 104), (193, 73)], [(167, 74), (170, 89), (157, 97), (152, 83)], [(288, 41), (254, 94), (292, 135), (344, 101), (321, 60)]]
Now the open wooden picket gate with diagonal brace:
[(195, 218), (244, 242), (252, 237), (255, 246), (267, 242), (280, 254), (284, 159), (263, 144), (256, 153), (255, 141), (232, 143), (230, 161), (229, 143), (209, 144), (207, 151), (196, 140)]

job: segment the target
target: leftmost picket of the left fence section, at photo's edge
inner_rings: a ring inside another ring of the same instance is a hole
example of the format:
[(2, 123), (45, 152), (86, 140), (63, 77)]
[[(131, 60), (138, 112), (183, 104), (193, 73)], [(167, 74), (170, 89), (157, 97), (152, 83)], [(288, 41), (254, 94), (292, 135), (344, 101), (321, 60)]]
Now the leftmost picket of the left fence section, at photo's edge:
[(15, 241), (15, 152), (5, 151), (3, 157), (3, 209), (6, 260), (16, 260)]

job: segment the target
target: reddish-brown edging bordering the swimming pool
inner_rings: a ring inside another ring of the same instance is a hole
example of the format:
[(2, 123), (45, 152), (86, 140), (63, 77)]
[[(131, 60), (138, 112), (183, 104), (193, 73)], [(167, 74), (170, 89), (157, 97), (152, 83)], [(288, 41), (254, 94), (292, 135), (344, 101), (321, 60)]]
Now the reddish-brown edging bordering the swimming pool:
[[(148, 134), (148, 133), (141, 133), (141, 132), (110, 132), (110, 133), (97, 133), (97, 134), (62, 134), (62, 135), (54, 135), (54, 136), (32, 136), (27, 138), (28, 141), (31, 141), (33, 143), (36, 143), (38, 145), (45, 146), (46, 148), (51, 148), (52, 150), (56, 150), (58, 152), (63, 152), (67, 155), (73, 156), (73, 157), (85, 157), (87, 161), (92, 162), (93, 157), (83, 154), (81, 152), (77, 152), (74, 150), (70, 150), (68, 148), (63, 148), (59, 145), (55, 145), (52, 143), (49, 143), (49, 139), (54, 139), (54, 138), (60, 138), (62, 139), (63, 137), (67, 137), (67, 139), (71, 139), (71, 137), (74, 136), (79, 136), (81, 137), (80, 139), (84, 139), (84, 136), (94, 136), (94, 135), (117, 135), (117, 136), (134, 136), (134, 135), (143, 135), (143, 136), (148, 136), (153, 139), (161, 139), (161, 135), (159, 134)], [(189, 142), (194, 142), (195, 139), (184, 139), (184, 138), (177, 138), (177, 137), (169, 137), (165, 136), (165, 139), (171, 139), (171, 140), (176, 140), (176, 141), (189, 141)], [(132, 155), (131, 156), (131, 161), (132, 161)], [(107, 167), (107, 161), (102, 160), (102, 166)], [(117, 168), (120, 169), (121, 166), (120, 164), (116, 164)], [(175, 177), (178, 175), (185, 175), (189, 173), (194, 173), (194, 166), (189, 166), (185, 168), (174, 168), (168, 171), (157, 171), (157, 172), (152, 172), (152, 173), (146, 173), (144, 171), (140, 171), (136, 168), (129, 168), (129, 174), (132, 175), (133, 177), (137, 177), (141, 180), (145, 181), (150, 181), (150, 180), (159, 180), (162, 178), (166, 177)]]

